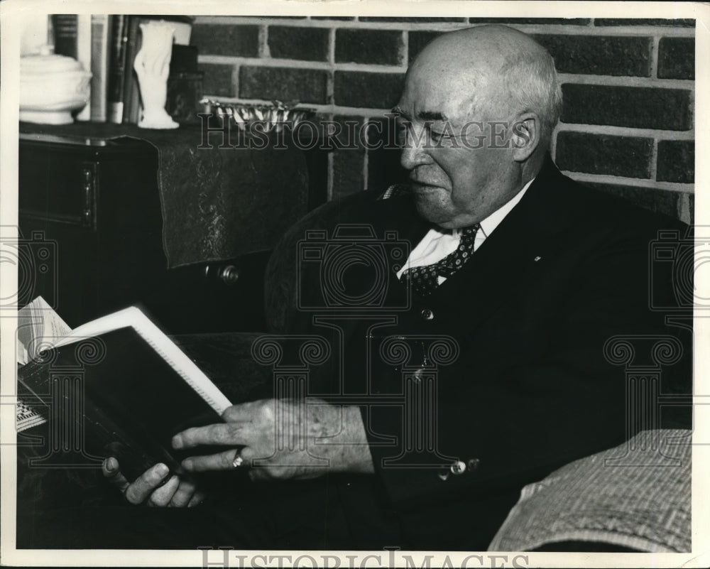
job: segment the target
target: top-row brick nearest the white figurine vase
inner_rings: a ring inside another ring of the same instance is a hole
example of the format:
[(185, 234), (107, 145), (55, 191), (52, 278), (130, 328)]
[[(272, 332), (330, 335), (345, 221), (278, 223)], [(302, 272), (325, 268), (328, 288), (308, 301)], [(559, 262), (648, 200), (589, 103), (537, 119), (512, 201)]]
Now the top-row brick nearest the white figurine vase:
[(258, 26), (227, 26), (196, 23), (190, 43), (197, 45), (200, 55), (241, 55), (256, 58), (259, 53)]

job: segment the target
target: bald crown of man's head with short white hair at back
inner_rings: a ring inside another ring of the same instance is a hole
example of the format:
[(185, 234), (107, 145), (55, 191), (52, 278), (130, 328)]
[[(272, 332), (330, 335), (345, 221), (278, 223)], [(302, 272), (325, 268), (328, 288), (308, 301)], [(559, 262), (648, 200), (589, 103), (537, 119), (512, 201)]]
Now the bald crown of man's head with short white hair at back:
[(471, 118), (494, 120), (535, 112), (547, 147), (562, 109), (555, 63), (527, 34), (506, 26), (478, 26), (445, 33), (417, 56), (408, 80), (444, 83)]

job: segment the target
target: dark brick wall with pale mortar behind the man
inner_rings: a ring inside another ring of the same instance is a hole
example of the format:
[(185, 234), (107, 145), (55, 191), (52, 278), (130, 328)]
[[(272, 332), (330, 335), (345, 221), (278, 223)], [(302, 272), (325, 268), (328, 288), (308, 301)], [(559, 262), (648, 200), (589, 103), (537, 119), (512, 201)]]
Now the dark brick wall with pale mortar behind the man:
[[(325, 119), (378, 119), (397, 102), (408, 63), (444, 31), (506, 23), (555, 58), (564, 113), (552, 142), (581, 182), (692, 221), (694, 21), (564, 18), (201, 16), (209, 97), (297, 99)], [(329, 197), (402, 179), (397, 151), (329, 155)]]

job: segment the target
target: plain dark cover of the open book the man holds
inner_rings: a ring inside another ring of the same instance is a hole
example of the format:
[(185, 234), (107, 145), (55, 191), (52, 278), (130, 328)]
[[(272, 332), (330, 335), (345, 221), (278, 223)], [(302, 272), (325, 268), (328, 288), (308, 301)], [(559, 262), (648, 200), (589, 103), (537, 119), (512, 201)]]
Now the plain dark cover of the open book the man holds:
[(87, 459), (118, 458), (128, 479), (157, 462), (184, 474), (187, 453), (173, 450), (173, 435), (222, 421), (133, 327), (49, 349), (21, 367), (18, 380), (50, 428), (73, 433), (68, 446), (78, 443)]

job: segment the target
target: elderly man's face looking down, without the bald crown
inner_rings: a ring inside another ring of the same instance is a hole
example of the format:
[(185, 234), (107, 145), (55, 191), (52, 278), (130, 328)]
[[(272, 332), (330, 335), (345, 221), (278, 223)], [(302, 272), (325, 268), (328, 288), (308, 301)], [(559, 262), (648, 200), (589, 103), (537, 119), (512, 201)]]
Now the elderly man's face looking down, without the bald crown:
[(400, 131), (405, 134), (401, 163), (422, 217), (447, 229), (467, 227), (520, 190), (507, 137), (501, 135), (510, 119), (508, 105), (502, 94), (491, 96), (501, 88), (486, 77), (466, 82), (447, 80), (446, 70), (434, 75), (410, 72), (394, 109), (408, 125)]

